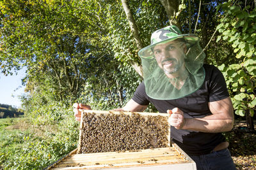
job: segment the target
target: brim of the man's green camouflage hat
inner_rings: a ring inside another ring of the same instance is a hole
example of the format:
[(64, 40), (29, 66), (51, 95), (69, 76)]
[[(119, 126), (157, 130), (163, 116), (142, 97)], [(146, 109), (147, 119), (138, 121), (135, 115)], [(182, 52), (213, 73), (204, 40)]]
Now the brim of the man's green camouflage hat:
[(182, 34), (180, 36), (175, 36), (175, 37), (172, 37), (172, 38), (168, 38), (168, 39), (164, 39), (163, 41), (159, 41), (157, 43), (154, 43), (152, 45), (148, 45), (146, 46), (145, 48), (142, 48), (139, 52), (138, 52), (138, 55), (140, 57), (154, 57), (154, 53), (152, 52), (151, 48), (160, 44), (160, 43), (167, 43), (169, 41), (173, 41), (175, 39), (179, 39), (179, 38), (184, 38), (186, 39), (186, 42), (189, 43), (189, 45), (192, 45), (194, 43), (196, 43), (199, 38), (198, 36), (196, 36), (195, 34)]

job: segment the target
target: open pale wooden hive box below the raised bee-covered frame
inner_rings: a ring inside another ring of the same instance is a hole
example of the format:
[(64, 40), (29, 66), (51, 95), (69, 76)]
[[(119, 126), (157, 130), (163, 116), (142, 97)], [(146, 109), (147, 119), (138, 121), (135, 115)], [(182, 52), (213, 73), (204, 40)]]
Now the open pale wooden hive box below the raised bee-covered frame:
[(195, 162), (179, 146), (141, 150), (141, 152), (105, 152), (76, 154), (70, 152), (47, 169), (175, 169), (195, 170)]

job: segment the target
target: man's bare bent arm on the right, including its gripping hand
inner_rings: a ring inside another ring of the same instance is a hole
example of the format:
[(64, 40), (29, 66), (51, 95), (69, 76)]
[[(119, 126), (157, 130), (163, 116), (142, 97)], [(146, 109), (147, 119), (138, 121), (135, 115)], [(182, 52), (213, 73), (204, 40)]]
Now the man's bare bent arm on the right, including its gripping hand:
[(204, 118), (184, 118), (183, 112), (173, 109), (170, 123), (176, 129), (188, 129), (200, 132), (230, 131), (234, 125), (234, 109), (230, 97), (209, 103), (212, 115)]

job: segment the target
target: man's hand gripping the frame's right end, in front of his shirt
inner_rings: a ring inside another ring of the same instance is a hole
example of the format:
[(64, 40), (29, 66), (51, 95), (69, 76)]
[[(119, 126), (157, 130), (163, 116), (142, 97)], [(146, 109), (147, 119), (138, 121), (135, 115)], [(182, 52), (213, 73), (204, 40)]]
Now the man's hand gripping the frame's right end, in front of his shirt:
[(184, 127), (186, 121), (182, 110), (174, 108), (173, 110), (167, 110), (167, 113), (169, 114), (168, 122), (170, 125), (176, 129), (182, 129)]

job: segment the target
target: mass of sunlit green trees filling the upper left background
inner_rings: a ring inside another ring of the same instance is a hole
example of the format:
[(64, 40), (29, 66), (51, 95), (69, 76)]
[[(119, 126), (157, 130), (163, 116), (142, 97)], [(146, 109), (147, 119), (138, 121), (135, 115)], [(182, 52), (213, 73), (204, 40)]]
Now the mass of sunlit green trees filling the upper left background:
[(117, 19), (122, 8), (118, 13), (111, 9), (113, 4), (115, 1), (93, 0), (1, 3), (1, 71), (8, 74), (11, 67), (19, 69), (20, 61), (28, 67), (24, 78), (28, 92), (24, 98), (28, 100), (24, 104), (32, 104), (36, 111), (49, 101), (70, 105), (84, 99), (81, 102), (95, 103), (101, 109), (125, 103), (140, 78), (129, 65), (129, 60), (136, 60), (132, 59), (134, 53), (123, 53), (129, 60), (117, 60), (121, 55), (109, 34), (114, 29), (106, 21)]

